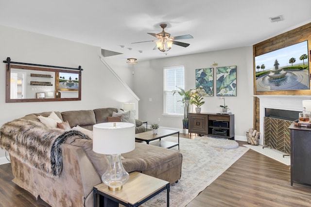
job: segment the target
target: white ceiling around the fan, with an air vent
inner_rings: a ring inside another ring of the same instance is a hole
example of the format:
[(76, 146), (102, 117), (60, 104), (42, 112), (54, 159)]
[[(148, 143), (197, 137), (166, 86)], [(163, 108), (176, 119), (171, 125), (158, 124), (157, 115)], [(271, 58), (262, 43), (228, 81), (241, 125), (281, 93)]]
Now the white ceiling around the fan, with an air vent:
[[(0, 25), (120, 52), (112, 58), (124, 61), (250, 46), (309, 22), (311, 0), (0, 0)], [(171, 36), (192, 35), (178, 40), (190, 46), (165, 54), (155, 42), (131, 44), (156, 40), (147, 33), (161, 32), (160, 23)]]

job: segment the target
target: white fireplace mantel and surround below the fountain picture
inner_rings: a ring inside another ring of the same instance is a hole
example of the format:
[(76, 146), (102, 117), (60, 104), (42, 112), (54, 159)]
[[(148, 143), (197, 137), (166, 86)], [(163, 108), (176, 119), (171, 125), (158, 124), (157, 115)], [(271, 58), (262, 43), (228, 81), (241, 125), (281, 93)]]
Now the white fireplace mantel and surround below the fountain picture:
[(302, 101), (311, 100), (311, 96), (271, 96), (255, 95), (259, 98), (259, 144), (263, 145), (265, 108), (302, 111)]

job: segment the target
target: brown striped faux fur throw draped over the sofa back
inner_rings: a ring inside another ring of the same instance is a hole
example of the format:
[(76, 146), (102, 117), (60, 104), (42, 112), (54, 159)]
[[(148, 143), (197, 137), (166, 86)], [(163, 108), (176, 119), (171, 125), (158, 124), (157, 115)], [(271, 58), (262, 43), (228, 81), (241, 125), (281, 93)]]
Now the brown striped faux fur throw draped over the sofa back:
[(0, 147), (20, 161), (57, 176), (63, 167), (61, 144), (70, 138), (86, 138), (79, 131), (46, 127), (41, 122), (17, 119), (0, 128)]

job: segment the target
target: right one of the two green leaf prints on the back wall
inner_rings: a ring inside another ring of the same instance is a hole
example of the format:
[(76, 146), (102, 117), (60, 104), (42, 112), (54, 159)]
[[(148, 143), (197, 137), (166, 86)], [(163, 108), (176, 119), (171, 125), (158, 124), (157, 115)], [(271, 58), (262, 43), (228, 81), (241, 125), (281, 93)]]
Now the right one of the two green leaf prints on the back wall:
[(237, 66), (217, 68), (216, 96), (237, 96)]

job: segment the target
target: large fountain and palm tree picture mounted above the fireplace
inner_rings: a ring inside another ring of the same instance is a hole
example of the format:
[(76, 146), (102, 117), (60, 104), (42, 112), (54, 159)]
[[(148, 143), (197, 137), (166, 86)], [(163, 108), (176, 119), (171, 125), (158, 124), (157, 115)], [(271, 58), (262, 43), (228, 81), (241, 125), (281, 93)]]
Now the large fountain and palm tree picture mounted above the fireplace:
[(310, 90), (308, 41), (255, 57), (256, 91)]

